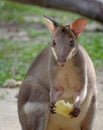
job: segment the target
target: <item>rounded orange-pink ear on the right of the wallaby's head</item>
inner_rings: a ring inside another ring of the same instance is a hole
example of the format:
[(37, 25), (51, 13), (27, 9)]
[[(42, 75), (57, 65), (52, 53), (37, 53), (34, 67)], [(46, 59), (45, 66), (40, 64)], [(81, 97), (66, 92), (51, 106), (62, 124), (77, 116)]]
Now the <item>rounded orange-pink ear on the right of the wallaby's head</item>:
[(70, 29), (74, 31), (74, 33), (78, 36), (81, 32), (84, 31), (87, 25), (87, 20), (85, 18), (79, 18), (74, 20), (70, 24)]

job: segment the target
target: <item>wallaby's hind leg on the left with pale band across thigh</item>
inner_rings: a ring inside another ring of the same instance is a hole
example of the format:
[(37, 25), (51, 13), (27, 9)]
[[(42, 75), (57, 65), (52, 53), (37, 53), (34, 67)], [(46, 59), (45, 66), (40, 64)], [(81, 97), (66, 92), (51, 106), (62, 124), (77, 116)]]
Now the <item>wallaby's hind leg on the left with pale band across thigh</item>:
[[(43, 86), (42, 86), (43, 87)], [(41, 86), (22, 87), (18, 114), (22, 130), (45, 130), (48, 119), (49, 92)]]

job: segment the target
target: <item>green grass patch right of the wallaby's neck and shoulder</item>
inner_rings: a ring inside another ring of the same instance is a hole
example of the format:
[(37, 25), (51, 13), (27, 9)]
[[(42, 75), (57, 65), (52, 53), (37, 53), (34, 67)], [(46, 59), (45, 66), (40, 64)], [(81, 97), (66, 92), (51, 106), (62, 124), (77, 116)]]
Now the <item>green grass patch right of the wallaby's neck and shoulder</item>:
[(80, 43), (89, 53), (95, 66), (103, 66), (103, 34), (84, 33), (79, 37)]

